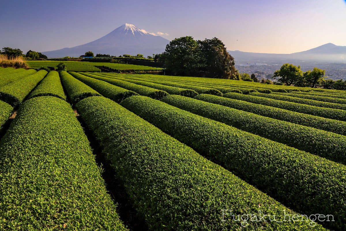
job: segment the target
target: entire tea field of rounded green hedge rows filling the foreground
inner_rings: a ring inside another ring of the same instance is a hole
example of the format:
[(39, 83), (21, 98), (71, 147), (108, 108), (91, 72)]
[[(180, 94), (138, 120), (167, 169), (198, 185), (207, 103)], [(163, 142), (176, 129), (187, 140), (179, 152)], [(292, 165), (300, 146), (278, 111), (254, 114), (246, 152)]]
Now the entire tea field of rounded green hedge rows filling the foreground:
[(345, 91), (74, 63), (0, 68), (0, 230), (346, 230)]

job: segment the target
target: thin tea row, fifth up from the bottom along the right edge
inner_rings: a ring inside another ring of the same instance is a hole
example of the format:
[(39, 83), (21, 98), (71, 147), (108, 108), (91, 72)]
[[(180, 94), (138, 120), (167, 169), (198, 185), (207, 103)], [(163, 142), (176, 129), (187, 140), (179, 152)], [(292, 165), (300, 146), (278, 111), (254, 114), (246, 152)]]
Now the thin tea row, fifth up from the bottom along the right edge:
[(263, 93), (254, 92), (254, 93), (251, 93), (251, 95), (266, 97), (266, 98), (271, 98), (271, 99), (277, 99), (277, 100), (283, 100), (283, 101), (293, 102), (293, 103), (297, 103), (297, 104), (307, 104), (307, 105), (316, 106), (316, 107), (327, 107), (327, 108), (346, 110), (345, 104), (335, 104), (335, 103), (322, 102), (322, 101), (312, 100), (312, 99), (302, 99), (302, 98), (288, 96), (285, 94), (283, 94), (283, 95), (263, 94)]

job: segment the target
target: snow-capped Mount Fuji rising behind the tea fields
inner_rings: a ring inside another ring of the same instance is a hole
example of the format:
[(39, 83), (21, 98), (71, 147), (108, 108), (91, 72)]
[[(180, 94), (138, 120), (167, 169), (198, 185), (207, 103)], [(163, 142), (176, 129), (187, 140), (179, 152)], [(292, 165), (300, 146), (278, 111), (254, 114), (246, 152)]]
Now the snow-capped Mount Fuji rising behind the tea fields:
[(95, 55), (97, 53), (117, 56), (123, 54), (143, 54), (146, 57), (164, 52), (169, 42), (168, 39), (149, 34), (143, 29), (126, 23), (90, 43), (42, 53), (47, 55), (48, 58), (65, 56), (79, 57), (87, 51), (92, 51)]

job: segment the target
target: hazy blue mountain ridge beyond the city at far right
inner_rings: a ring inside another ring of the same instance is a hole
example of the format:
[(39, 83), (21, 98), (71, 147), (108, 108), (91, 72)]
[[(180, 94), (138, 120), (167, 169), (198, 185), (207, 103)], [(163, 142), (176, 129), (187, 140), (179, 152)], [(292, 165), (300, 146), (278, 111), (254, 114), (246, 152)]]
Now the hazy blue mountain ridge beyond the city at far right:
[(273, 62), (273, 61), (328, 61), (328, 62), (346, 62), (346, 46), (337, 46), (333, 43), (327, 43), (307, 51), (296, 52), (292, 54), (270, 54), (253, 53), (242, 51), (228, 51), (236, 62)]

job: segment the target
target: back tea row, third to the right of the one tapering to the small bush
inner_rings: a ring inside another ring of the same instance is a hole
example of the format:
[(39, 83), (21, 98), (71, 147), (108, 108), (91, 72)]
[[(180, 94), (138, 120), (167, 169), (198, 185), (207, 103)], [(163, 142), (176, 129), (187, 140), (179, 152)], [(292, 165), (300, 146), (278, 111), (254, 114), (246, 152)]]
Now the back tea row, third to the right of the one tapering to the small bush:
[(198, 95), (197, 92), (191, 89), (184, 89), (184, 88), (178, 88), (178, 87), (171, 87), (171, 86), (165, 86), (162, 84), (157, 84), (157, 83), (151, 83), (151, 82), (146, 82), (146, 81), (139, 81), (137, 80), (138, 78), (126, 78), (126, 77), (117, 77), (117, 79), (130, 82), (130, 83), (135, 83), (137, 85), (141, 86), (146, 86), (146, 87), (151, 87), (159, 90), (166, 91), (168, 94), (172, 95), (182, 95), (186, 97), (195, 97)]

